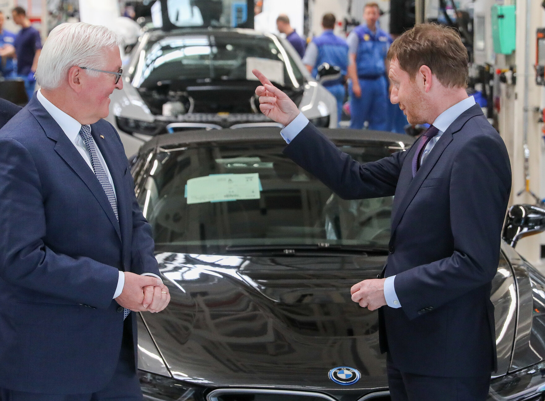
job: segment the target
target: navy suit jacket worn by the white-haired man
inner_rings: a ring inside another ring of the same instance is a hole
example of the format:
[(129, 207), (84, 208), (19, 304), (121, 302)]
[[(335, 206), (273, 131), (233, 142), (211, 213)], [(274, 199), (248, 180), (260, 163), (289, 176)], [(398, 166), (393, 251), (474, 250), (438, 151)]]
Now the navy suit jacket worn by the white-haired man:
[[(123, 334), (112, 300), (118, 272), (159, 274), (119, 136), (102, 119), (91, 128), (116, 189), (119, 223), (36, 95), (0, 130), (0, 388), (104, 388)], [(135, 319), (133, 334), (136, 345)]]

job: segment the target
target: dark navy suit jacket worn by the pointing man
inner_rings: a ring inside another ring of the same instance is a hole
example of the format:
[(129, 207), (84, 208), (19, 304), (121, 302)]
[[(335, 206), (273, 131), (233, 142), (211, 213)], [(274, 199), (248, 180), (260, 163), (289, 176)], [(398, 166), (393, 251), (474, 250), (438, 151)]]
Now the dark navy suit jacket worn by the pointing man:
[(489, 374), (496, 364), (490, 282), (511, 191), (507, 150), (474, 105), (413, 178), (415, 151), (361, 165), (311, 124), (284, 149), (343, 199), (395, 195), (383, 274), (397, 275), (402, 307), (379, 310), (381, 351), (403, 372)]

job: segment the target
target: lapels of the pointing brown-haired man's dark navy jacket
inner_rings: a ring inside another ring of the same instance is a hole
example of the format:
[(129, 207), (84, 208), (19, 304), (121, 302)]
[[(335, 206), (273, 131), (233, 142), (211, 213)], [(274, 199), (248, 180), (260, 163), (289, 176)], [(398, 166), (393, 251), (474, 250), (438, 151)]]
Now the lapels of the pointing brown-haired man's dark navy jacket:
[(475, 104), (474, 106), (471, 106), (468, 110), (464, 111), (457, 119), (455, 119), (455, 121), (449, 125), (449, 128), (447, 128), (445, 133), (441, 135), (437, 143), (435, 143), (432, 151), (429, 152), (429, 154), (427, 155), (425, 163), (423, 163), (422, 167), (420, 167), (420, 169), (416, 172), (414, 178), (411, 163), (413, 161), (416, 147), (413, 146), (411, 148), (411, 151), (409, 151), (410, 153), (407, 155), (403, 163), (402, 171), (399, 177), (400, 179), (397, 184), (398, 187), (400, 187), (401, 185), (401, 188), (399, 188), (399, 194), (396, 188), (396, 197), (401, 199), (399, 199), (399, 203), (397, 204), (398, 207), (396, 207), (397, 199), (394, 198), (393, 210), (395, 212), (392, 218), (392, 234), (396, 230), (399, 222), (401, 222), (403, 214), (407, 210), (407, 207), (409, 207), (410, 202), (414, 199), (422, 183), (432, 171), (433, 167), (441, 157), (441, 154), (443, 154), (443, 152), (445, 151), (446, 147), (449, 146), (449, 144), (452, 142), (452, 134), (455, 134), (459, 130), (461, 130), (464, 124), (467, 123), (470, 118), (478, 115), (482, 115), (482, 110), (478, 104)]

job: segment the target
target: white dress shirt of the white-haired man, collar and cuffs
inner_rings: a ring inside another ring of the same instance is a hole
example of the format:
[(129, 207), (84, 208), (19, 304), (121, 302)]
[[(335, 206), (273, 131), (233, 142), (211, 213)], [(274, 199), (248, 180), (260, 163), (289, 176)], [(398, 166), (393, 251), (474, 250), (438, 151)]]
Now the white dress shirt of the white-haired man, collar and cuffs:
[[(39, 102), (42, 106), (44, 106), (44, 109), (50, 113), (51, 117), (59, 124), (60, 129), (64, 131), (66, 136), (68, 136), (68, 139), (70, 142), (74, 144), (76, 147), (76, 150), (80, 152), (81, 157), (87, 165), (89, 166), (89, 169), (93, 171), (93, 165), (91, 164), (91, 157), (89, 154), (89, 150), (87, 149), (87, 146), (85, 145), (85, 142), (83, 141), (83, 138), (80, 135), (81, 130), (81, 124), (77, 122), (77, 120), (68, 114), (66, 114), (64, 111), (60, 110), (57, 106), (55, 106), (53, 103), (51, 103), (49, 100), (47, 100), (44, 95), (41, 93), (41, 89), (38, 89), (38, 93), (36, 94)], [(89, 126), (90, 129), (90, 126)], [(110, 181), (110, 184), (112, 185), (113, 193), (116, 195), (116, 187), (113, 185), (112, 176), (110, 175), (110, 170), (108, 170), (108, 166), (106, 164), (106, 161), (104, 161), (104, 157), (102, 157), (102, 153), (100, 153), (100, 149), (98, 146), (96, 146), (96, 143), (93, 138), (91, 138), (93, 142), (93, 146), (95, 147), (95, 152), (98, 155), (100, 164), (102, 165), (102, 168), (106, 172), (106, 175), (108, 176), (108, 181)], [(117, 199), (117, 195), (116, 195)], [(142, 276), (153, 276), (160, 279), (157, 274), (153, 273), (143, 273)], [(117, 280), (117, 288), (116, 292), (113, 294), (113, 298), (117, 298), (121, 292), (123, 291), (123, 286), (125, 285), (125, 274), (122, 271), (119, 271), (119, 278)]]

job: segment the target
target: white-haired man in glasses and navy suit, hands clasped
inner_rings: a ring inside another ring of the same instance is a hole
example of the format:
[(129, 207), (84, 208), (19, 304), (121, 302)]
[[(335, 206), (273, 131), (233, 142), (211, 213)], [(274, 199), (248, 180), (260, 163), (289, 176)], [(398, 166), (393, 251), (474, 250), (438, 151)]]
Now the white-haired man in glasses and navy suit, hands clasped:
[(169, 302), (117, 131), (120, 39), (62, 24), (41, 89), (0, 130), (0, 394), (141, 400), (136, 319)]

